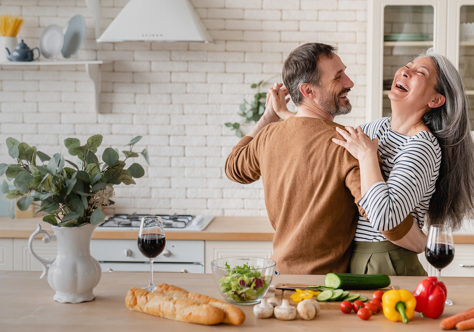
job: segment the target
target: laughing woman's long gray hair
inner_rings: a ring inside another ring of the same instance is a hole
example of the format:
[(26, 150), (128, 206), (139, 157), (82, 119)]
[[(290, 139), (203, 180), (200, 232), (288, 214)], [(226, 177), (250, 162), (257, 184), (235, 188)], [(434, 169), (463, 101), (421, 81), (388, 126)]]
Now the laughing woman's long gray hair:
[(438, 139), (442, 158), (436, 191), (429, 203), (428, 224), (459, 229), (465, 218), (474, 218), (474, 141), (469, 121), (465, 85), (455, 66), (433, 47), (416, 58), (428, 56), (438, 71), (435, 91), (446, 97), (444, 105), (423, 117)]

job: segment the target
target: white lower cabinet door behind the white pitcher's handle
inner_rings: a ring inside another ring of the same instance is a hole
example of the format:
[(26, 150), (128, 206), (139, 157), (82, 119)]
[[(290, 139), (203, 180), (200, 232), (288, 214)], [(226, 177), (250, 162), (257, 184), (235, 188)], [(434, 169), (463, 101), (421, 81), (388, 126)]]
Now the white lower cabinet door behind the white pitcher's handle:
[[(56, 241), (44, 243), (33, 240), (36, 254), (42, 258), (54, 258), (57, 255)], [(28, 239), (13, 239), (13, 269), (21, 271), (43, 271), (43, 265), (28, 250)]]

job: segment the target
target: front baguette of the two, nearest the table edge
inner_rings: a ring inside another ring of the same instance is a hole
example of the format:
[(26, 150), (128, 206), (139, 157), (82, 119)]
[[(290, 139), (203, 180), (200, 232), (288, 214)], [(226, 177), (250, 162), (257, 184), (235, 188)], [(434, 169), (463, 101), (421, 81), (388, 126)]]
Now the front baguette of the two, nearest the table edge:
[(224, 319), (224, 312), (212, 305), (136, 287), (128, 290), (125, 304), (131, 310), (185, 323), (213, 325)]

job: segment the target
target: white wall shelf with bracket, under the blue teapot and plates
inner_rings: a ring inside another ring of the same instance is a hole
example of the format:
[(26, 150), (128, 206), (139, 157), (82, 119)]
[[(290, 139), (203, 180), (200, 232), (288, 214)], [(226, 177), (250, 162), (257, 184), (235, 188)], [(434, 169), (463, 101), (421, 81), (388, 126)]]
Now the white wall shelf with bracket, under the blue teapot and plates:
[[(57, 61), (9, 61), (9, 62), (0, 62), (1, 66), (44, 66), (44, 65), (85, 65), (86, 72), (91, 78), (91, 81), (94, 83), (94, 107), (95, 111), (100, 111), (100, 70), (99, 66), (103, 64), (102, 60), (57, 60)], [(107, 63), (107, 62), (106, 62)]]

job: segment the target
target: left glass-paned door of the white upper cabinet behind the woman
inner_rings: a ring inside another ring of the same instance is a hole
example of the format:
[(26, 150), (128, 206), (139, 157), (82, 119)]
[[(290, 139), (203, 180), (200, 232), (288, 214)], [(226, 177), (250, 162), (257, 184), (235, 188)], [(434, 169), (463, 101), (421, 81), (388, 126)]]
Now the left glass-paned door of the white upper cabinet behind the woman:
[(369, 0), (367, 13), (367, 113), (391, 115), (393, 75), (430, 46), (446, 55), (446, 0)]

